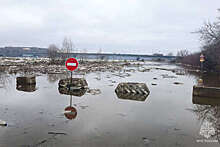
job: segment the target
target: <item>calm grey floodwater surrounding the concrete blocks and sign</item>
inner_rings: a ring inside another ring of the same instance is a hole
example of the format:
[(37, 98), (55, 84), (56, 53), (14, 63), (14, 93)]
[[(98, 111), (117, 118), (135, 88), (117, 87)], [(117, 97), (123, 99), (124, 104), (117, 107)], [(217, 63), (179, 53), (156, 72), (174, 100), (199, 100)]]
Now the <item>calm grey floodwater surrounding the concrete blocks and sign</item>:
[[(180, 68), (150, 62), (144, 66)], [(192, 103), (198, 76), (159, 69), (128, 73), (75, 75), (84, 77), (90, 89), (101, 91), (79, 97), (59, 93), (61, 75), (37, 76), (36, 89), (24, 92), (16, 87), (17, 75), (1, 74), (0, 120), (8, 126), (0, 126), (0, 147), (219, 146), (217, 127), (209, 126), (214, 128), (212, 136), (201, 133), (207, 130), (204, 122), (216, 122), (220, 115), (215, 113), (218, 106)], [(115, 94), (120, 82), (144, 82), (150, 94), (144, 101), (120, 99)], [(72, 116), (64, 115), (69, 106)]]

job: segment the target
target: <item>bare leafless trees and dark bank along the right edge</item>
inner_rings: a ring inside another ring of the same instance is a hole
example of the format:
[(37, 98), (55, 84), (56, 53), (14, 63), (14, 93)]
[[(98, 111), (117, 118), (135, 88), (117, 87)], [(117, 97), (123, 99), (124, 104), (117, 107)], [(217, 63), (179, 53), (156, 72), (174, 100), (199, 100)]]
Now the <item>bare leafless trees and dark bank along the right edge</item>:
[(178, 52), (178, 61), (183, 64), (200, 66), (199, 59), (203, 54), (205, 56), (204, 70), (220, 72), (220, 17), (215, 22), (205, 22), (195, 33), (200, 34), (200, 39), (203, 42), (201, 51), (193, 54), (180, 51)]

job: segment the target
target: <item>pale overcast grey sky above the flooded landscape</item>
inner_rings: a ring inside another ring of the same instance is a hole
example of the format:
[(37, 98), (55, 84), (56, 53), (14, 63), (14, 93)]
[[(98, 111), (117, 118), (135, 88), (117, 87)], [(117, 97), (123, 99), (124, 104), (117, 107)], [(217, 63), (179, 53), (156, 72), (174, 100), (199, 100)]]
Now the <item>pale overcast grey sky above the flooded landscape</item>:
[(218, 8), (220, 0), (0, 0), (0, 46), (61, 46), (67, 36), (87, 52), (193, 52), (201, 42), (190, 32)]

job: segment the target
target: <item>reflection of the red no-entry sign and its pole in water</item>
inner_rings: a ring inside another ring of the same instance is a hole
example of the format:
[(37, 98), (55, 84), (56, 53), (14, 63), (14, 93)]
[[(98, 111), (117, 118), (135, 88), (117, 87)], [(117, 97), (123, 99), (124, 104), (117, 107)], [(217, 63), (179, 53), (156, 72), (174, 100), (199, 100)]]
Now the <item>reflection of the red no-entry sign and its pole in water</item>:
[(66, 107), (64, 115), (67, 119), (72, 120), (77, 116), (77, 110), (72, 106), (72, 95), (70, 96), (70, 106)]

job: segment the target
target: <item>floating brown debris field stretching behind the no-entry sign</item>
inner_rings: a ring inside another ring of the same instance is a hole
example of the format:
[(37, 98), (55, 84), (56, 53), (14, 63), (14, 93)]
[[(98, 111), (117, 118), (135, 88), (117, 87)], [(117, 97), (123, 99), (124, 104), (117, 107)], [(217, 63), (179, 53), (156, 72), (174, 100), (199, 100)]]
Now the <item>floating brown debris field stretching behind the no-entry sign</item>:
[[(17, 73), (41, 73), (41, 74), (62, 74), (67, 70), (64, 64), (51, 64), (48, 58), (1, 58), (0, 69), (8, 71), (10, 74)], [(75, 73), (91, 72), (116, 72), (122, 71), (124, 67), (130, 67), (133, 64), (125, 61), (84, 61)], [(133, 65), (134, 66), (134, 65)], [(135, 64), (136, 66), (136, 64)], [(138, 66), (140, 66), (138, 64)]]

